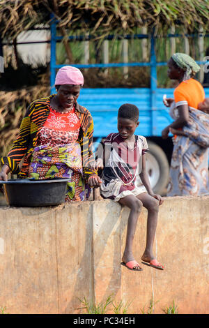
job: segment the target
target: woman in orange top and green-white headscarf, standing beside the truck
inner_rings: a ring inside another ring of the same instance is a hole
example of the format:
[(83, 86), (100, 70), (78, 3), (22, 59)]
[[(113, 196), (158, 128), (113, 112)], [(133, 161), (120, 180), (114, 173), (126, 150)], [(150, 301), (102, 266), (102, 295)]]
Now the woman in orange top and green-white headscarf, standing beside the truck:
[(209, 193), (208, 147), (209, 114), (201, 112), (205, 93), (201, 84), (194, 80), (199, 65), (187, 54), (173, 54), (168, 62), (168, 76), (178, 80), (174, 99), (167, 98), (174, 121), (164, 128), (162, 138), (173, 133), (168, 196), (204, 195)]

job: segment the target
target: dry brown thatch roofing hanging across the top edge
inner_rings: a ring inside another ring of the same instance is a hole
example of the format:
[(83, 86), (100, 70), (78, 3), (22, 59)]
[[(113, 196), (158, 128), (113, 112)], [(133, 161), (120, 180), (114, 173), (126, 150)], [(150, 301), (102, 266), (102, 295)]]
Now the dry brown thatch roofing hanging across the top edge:
[(59, 26), (82, 32), (131, 32), (135, 27), (167, 30), (181, 24), (189, 30), (208, 29), (208, 0), (0, 0), (1, 36), (17, 36), (53, 13)]

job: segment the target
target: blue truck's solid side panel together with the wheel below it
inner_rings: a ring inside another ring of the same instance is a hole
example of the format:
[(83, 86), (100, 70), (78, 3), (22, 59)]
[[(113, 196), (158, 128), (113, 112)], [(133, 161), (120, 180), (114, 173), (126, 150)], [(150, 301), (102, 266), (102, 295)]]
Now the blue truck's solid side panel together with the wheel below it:
[[(82, 89), (79, 103), (90, 110), (94, 121), (95, 149), (102, 137), (117, 132), (117, 112), (123, 103), (133, 103), (139, 107), (139, 127), (136, 133), (148, 140), (147, 169), (150, 184), (156, 193), (166, 194), (169, 179), (169, 163), (173, 143), (171, 137), (162, 140), (161, 131), (173, 119), (164, 106), (162, 98), (167, 94), (173, 98), (174, 89), (156, 89), (156, 108), (151, 106), (150, 89)], [(205, 89), (209, 97), (209, 88)]]

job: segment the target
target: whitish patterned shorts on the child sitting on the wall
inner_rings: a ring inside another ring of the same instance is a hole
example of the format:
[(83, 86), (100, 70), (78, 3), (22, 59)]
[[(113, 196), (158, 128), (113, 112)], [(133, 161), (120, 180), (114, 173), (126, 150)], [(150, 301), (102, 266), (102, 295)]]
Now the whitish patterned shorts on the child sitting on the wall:
[(146, 192), (146, 188), (143, 185), (130, 188), (130, 186), (121, 184), (121, 181), (118, 179), (111, 180), (106, 186), (104, 185), (104, 180), (102, 180), (102, 184), (100, 185), (100, 194), (102, 197), (114, 200), (114, 202), (118, 202), (118, 200), (128, 195), (137, 196)]

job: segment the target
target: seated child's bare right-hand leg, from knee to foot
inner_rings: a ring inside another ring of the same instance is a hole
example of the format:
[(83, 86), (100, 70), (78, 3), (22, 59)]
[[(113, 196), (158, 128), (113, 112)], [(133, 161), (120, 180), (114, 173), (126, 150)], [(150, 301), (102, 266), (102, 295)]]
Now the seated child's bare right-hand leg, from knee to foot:
[(150, 262), (155, 258), (153, 254), (153, 244), (155, 239), (155, 232), (157, 228), (157, 217), (159, 211), (159, 201), (147, 193), (137, 195), (142, 204), (148, 210), (147, 228), (146, 228), (146, 248), (141, 260)]

